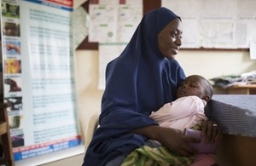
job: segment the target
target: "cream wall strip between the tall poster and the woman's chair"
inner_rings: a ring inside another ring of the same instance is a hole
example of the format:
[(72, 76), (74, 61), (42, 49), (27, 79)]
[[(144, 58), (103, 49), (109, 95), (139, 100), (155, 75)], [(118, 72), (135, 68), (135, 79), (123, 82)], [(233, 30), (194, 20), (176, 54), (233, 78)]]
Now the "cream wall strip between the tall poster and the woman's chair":
[(77, 51), (75, 59), (79, 118), (85, 133), (90, 116), (101, 109), (103, 91), (97, 89), (98, 52)]

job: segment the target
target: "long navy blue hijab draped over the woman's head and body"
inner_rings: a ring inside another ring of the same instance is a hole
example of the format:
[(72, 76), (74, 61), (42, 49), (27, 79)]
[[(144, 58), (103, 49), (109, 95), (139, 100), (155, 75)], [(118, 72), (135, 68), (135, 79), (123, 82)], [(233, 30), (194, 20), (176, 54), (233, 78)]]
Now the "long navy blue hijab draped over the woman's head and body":
[(127, 132), (157, 125), (148, 115), (176, 99), (177, 86), (185, 75), (176, 60), (160, 54), (157, 36), (177, 18), (166, 8), (145, 14), (122, 54), (108, 63), (100, 127), (83, 165), (104, 165), (141, 146), (148, 139)]

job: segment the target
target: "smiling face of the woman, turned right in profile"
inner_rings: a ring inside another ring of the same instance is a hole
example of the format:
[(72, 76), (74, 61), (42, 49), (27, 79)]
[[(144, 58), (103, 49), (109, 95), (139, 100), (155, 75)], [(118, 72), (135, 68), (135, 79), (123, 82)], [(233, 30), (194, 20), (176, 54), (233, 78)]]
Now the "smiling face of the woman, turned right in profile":
[(160, 33), (158, 34), (158, 48), (160, 53), (169, 60), (174, 59), (177, 50), (182, 44), (182, 23), (178, 18), (172, 20)]

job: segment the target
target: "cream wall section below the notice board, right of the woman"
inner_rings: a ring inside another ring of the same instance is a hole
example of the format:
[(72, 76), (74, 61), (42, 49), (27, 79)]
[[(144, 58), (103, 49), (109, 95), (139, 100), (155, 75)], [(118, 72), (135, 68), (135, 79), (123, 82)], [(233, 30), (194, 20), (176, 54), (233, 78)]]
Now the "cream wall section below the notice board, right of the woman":
[(247, 51), (179, 51), (176, 60), (186, 75), (200, 74), (207, 79), (256, 70), (256, 60)]

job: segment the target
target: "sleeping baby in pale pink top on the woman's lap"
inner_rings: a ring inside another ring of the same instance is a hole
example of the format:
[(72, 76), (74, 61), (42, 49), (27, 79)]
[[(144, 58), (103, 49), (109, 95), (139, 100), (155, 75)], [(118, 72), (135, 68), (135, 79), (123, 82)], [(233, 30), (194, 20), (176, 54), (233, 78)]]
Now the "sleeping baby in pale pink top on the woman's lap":
[(187, 77), (177, 89), (177, 100), (166, 103), (150, 117), (160, 126), (179, 129), (192, 128), (207, 120), (204, 107), (211, 100), (212, 84), (199, 75)]

